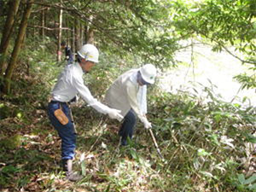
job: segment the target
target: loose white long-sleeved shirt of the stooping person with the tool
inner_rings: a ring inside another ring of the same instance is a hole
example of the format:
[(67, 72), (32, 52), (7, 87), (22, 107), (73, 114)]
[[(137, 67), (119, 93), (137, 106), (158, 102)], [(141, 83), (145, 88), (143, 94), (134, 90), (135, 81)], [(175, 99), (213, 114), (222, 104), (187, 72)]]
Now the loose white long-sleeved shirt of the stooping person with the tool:
[(107, 90), (105, 101), (110, 108), (121, 110), (123, 116), (132, 108), (142, 119), (147, 113), (147, 85), (137, 83), (138, 70), (131, 69), (120, 75)]

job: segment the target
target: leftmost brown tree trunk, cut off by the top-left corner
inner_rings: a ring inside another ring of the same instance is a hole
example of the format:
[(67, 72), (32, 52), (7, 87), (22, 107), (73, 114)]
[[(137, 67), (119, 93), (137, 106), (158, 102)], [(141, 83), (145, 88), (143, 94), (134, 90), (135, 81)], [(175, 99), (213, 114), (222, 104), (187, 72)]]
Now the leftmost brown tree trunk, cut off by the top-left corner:
[(0, 44), (0, 75), (4, 73), (5, 68), (5, 60), (7, 55), (7, 50), (9, 48), (9, 40), (11, 38), (11, 34), (14, 31), (14, 22), (15, 22), (15, 15), (19, 9), (20, 0), (10, 0), (9, 1), (9, 11), (8, 16), (5, 21), (5, 25), (3, 27), (3, 36)]

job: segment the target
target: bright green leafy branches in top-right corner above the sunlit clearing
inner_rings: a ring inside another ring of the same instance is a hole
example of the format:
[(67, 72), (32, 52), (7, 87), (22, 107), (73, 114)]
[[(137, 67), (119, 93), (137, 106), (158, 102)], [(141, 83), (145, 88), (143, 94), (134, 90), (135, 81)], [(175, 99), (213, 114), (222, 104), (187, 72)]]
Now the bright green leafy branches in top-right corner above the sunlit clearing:
[[(216, 52), (228, 51), (241, 63), (255, 66), (255, 4), (245, 1), (172, 1), (172, 26), (183, 39), (195, 38), (212, 45)], [(235, 50), (234, 50), (235, 49)], [(242, 55), (239, 56), (238, 54)], [(246, 58), (246, 59), (243, 59)], [(251, 68), (252, 73), (255, 67)], [(235, 77), (243, 89), (255, 88), (255, 75)]]

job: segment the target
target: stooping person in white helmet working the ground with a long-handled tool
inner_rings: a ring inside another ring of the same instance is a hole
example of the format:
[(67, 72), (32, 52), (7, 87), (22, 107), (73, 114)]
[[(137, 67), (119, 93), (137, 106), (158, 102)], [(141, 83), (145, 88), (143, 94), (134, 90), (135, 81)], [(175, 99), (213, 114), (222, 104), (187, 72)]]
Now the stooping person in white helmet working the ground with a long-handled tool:
[(155, 77), (154, 65), (146, 64), (123, 73), (107, 90), (105, 102), (110, 108), (119, 109), (124, 116), (124, 122), (119, 129), (121, 146), (127, 145), (127, 137), (132, 138), (137, 117), (146, 129), (151, 128), (146, 117), (147, 84), (154, 84)]

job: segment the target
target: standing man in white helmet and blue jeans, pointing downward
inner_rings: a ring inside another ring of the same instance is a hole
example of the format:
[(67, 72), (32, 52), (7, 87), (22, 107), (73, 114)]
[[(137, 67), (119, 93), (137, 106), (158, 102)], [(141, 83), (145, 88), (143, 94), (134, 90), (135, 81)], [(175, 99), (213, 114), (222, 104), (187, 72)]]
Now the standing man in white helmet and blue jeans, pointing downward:
[(83, 74), (98, 62), (99, 51), (92, 44), (84, 44), (78, 51), (78, 61), (67, 65), (55, 84), (48, 105), (51, 124), (61, 137), (61, 160), (67, 179), (77, 181), (81, 177), (72, 172), (72, 162), (75, 155), (77, 133), (74, 129), (73, 118), (68, 102), (79, 94), (90, 107), (97, 112), (108, 114), (111, 119), (123, 119), (120, 111), (98, 102), (91, 96), (90, 90), (84, 85)]

